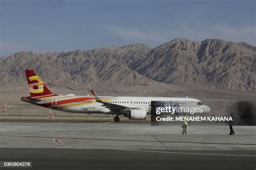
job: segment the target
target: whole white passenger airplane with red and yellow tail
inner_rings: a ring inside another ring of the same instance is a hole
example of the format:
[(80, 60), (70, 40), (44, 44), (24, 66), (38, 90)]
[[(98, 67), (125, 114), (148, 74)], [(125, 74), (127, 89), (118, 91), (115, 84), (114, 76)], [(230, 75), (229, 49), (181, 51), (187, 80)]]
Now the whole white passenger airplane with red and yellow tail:
[(120, 115), (129, 119), (146, 119), (151, 112), (151, 101), (171, 101), (179, 107), (203, 107), (203, 112), (210, 108), (200, 100), (188, 97), (132, 97), (132, 96), (98, 96), (91, 90), (92, 96), (77, 96), (73, 94), (57, 95), (45, 85), (42, 79), (32, 69), (26, 69), (30, 96), (21, 100), (41, 107), (59, 111), (84, 114), (116, 115), (114, 122), (119, 122)]

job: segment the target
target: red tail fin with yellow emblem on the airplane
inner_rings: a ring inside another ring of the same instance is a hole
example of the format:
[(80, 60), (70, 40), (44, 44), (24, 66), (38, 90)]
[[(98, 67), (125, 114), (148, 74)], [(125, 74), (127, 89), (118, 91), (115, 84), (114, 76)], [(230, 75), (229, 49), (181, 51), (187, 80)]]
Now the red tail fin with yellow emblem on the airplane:
[(29, 84), (29, 92), (31, 97), (39, 96), (56, 96), (51, 90), (44, 84), (40, 77), (32, 69), (26, 69), (26, 80)]

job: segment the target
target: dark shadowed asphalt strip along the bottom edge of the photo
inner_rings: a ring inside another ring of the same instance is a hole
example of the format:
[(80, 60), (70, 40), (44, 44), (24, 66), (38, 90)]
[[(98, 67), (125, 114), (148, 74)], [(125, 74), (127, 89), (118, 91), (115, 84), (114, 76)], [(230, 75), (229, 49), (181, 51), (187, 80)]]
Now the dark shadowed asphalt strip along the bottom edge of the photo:
[(186, 150), (174, 152), (165, 150), (161, 153), (161, 151), (0, 148), (0, 152), (1, 160), (32, 161), (32, 169), (255, 169), (256, 158), (237, 156), (237, 154), (251, 155), (252, 151), (207, 151), (208, 154), (205, 155), (204, 151), (193, 154), (194, 152)]

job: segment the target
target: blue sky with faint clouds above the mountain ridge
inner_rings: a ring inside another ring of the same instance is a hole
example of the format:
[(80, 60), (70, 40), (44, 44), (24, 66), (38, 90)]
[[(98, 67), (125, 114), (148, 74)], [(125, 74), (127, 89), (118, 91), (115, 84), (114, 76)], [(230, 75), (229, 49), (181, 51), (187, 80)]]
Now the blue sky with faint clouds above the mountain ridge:
[(1, 51), (73, 51), (174, 38), (256, 45), (255, 1), (0, 0)]

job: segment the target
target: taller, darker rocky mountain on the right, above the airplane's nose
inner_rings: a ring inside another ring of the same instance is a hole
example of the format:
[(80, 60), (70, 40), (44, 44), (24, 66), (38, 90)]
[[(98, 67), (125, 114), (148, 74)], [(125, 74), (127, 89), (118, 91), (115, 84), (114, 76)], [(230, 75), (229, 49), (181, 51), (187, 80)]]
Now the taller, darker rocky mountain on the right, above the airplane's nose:
[(165, 83), (255, 89), (255, 64), (255, 51), (233, 42), (174, 39), (153, 48), (136, 70)]

